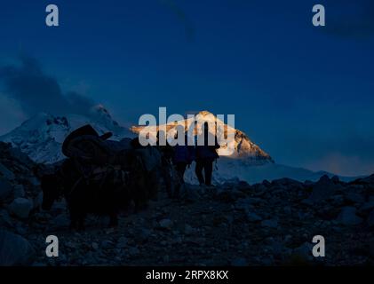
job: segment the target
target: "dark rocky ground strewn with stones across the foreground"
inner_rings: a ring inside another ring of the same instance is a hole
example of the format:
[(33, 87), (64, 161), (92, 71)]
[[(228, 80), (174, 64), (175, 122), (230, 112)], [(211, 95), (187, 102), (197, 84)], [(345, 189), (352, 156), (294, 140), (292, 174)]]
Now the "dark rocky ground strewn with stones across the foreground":
[[(0, 144), (1, 264), (374, 264), (374, 175), (186, 185), (178, 200), (160, 193), (147, 209), (123, 212), (117, 228), (91, 216), (78, 233), (68, 230), (64, 201), (38, 209), (34, 164), (13, 151)], [(50, 234), (59, 238), (59, 257), (45, 256)], [(325, 257), (312, 256), (314, 235), (324, 237)]]

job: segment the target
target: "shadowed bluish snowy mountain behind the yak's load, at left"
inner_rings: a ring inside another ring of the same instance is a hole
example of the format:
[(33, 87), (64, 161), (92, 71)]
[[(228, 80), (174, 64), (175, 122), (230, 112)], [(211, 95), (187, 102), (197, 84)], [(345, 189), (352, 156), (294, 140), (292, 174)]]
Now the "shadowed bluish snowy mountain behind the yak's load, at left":
[(20, 127), (0, 137), (0, 140), (19, 147), (35, 162), (54, 163), (64, 158), (61, 145), (68, 134), (87, 123), (99, 134), (111, 131), (114, 134), (111, 139), (114, 140), (133, 136), (130, 130), (113, 120), (104, 106), (99, 105), (93, 107), (87, 115), (36, 114)]

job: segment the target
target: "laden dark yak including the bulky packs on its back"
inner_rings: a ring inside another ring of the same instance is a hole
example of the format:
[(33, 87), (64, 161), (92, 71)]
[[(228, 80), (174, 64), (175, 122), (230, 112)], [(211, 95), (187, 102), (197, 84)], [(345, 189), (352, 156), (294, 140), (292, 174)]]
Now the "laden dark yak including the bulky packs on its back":
[(99, 136), (91, 125), (74, 130), (62, 145), (68, 158), (52, 174), (41, 177), (43, 208), (51, 209), (53, 201), (63, 195), (73, 228), (83, 229), (87, 213), (108, 215), (109, 225), (117, 225), (121, 209), (132, 205), (137, 211), (157, 196), (162, 177), (160, 151), (140, 146), (138, 138), (108, 140), (111, 136), (110, 132)]

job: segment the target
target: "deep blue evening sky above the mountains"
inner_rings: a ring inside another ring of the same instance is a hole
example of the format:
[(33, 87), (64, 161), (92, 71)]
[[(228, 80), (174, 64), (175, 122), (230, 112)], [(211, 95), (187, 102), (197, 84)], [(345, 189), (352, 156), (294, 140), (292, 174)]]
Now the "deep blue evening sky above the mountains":
[[(374, 172), (373, 51), (370, 0), (0, 1), (1, 66), (27, 54), (123, 123), (159, 106), (235, 114), (276, 162), (342, 175)], [(32, 112), (50, 111), (41, 98)], [(0, 104), (0, 134), (31, 115), (9, 88)]]

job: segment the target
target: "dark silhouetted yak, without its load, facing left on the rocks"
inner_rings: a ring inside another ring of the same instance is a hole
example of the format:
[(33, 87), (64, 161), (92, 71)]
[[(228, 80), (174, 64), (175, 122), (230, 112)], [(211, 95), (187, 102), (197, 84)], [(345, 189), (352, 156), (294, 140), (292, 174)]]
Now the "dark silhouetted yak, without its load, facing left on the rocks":
[(120, 165), (96, 168), (82, 172), (76, 159), (66, 159), (55, 173), (41, 177), (44, 193), (42, 209), (51, 209), (54, 201), (65, 197), (72, 229), (84, 229), (88, 213), (107, 215), (109, 225), (118, 225), (117, 214), (131, 201), (135, 210), (147, 206), (147, 171), (140, 157), (126, 154), (127, 167)]

